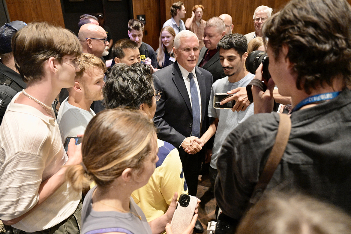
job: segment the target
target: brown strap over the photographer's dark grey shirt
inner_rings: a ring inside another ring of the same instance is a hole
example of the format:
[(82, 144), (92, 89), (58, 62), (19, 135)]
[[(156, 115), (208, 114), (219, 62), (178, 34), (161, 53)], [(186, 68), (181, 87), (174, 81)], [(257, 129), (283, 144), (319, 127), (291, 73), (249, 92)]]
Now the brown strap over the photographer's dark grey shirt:
[(259, 177), (256, 187), (253, 190), (250, 202), (256, 203), (269, 181), (271, 180), (274, 172), (276, 171), (280, 160), (282, 159), (283, 153), (285, 151), (287, 141), (289, 140), (291, 131), (291, 120), (290, 116), (287, 114), (279, 114), (279, 126), (276, 136), (276, 141), (273, 145), (272, 151), (268, 157), (266, 165), (263, 169), (262, 174)]

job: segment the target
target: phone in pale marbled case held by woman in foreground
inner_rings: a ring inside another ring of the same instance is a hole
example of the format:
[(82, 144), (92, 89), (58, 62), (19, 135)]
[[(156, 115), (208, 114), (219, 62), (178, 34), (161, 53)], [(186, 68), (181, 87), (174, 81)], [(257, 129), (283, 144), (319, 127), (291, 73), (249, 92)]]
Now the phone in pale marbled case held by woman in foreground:
[(197, 198), (181, 194), (171, 221), (173, 234), (181, 234), (190, 225), (197, 205)]

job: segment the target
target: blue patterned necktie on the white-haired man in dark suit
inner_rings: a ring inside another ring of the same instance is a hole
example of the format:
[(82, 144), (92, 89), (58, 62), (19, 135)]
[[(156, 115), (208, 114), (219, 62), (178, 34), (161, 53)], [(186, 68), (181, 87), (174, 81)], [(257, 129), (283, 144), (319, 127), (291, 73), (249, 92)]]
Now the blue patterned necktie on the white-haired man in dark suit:
[(190, 95), (191, 95), (191, 109), (193, 112), (193, 125), (192, 125), (192, 136), (200, 137), (200, 104), (199, 95), (197, 92), (196, 84), (194, 81), (194, 75), (189, 73), (188, 78), (190, 79)]

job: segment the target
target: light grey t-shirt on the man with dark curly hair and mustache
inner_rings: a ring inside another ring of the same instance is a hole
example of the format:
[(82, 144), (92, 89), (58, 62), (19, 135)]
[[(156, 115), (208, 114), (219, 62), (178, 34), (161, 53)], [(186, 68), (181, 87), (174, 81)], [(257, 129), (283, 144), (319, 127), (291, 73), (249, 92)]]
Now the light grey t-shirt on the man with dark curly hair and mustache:
[(230, 83), (228, 81), (228, 76), (226, 76), (225, 78), (217, 80), (212, 85), (210, 103), (208, 104), (208, 117), (219, 119), (216, 135), (214, 136), (212, 158), (210, 163), (210, 166), (214, 169), (217, 169), (217, 156), (225, 138), (240, 123), (253, 115), (253, 103), (247, 107), (245, 111), (239, 112), (233, 112), (231, 109), (215, 109), (213, 108), (213, 96), (215, 93), (227, 93), (228, 91), (238, 87), (246, 87), (253, 78), (254, 75), (249, 73), (238, 82)]

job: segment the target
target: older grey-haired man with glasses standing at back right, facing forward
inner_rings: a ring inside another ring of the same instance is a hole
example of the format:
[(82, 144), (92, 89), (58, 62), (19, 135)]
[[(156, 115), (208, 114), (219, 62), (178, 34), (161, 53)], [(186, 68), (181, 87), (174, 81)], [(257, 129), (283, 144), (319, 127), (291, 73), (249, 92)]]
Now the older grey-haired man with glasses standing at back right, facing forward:
[(259, 6), (253, 13), (253, 26), (255, 27), (255, 32), (245, 34), (247, 43), (257, 36), (262, 36), (261, 29), (263, 23), (272, 16), (273, 9), (267, 6)]

